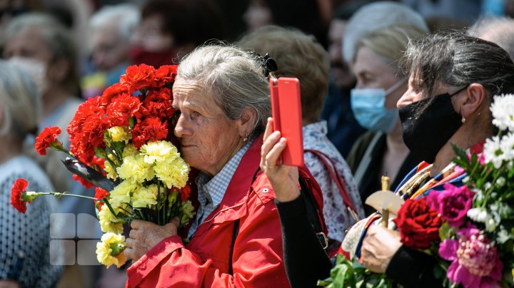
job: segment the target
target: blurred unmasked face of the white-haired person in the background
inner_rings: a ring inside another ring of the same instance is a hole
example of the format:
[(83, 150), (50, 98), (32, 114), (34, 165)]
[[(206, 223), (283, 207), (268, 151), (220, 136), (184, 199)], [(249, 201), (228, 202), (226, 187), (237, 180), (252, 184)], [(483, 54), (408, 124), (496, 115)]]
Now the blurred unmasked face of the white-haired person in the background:
[(129, 43), (115, 27), (104, 27), (94, 32), (91, 58), (96, 68), (109, 71), (129, 61)]

